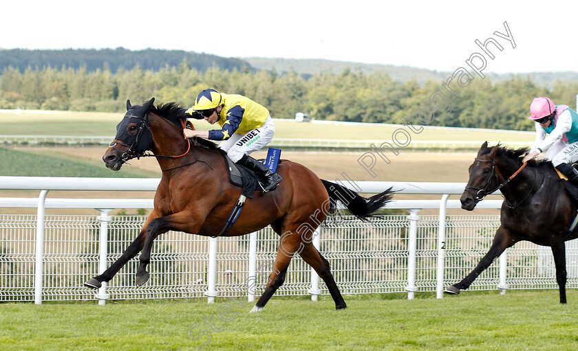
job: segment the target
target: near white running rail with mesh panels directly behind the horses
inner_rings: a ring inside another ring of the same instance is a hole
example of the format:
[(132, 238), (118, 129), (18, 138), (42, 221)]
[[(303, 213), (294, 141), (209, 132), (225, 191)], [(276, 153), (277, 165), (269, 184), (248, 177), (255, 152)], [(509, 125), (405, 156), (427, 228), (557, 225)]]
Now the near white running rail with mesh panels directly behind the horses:
[[(104, 271), (136, 237), (144, 216), (109, 216), (115, 208), (151, 208), (152, 199), (46, 199), (50, 190), (155, 190), (159, 179), (0, 177), (0, 189), (41, 190), (37, 199), (0, 198), (0, 207), (37, 207), (38, 214), (0, 215), (0, 301), (74, 301), (247, 296), (264, 290), (278, 236), (265, 228), (235, 238), (204, 238), (180, 232), (155, 241), (144, 286), (134, 286), (138, 256), (96, 293), (82, 286)], [(499, 216), (446, 215), (459, 208), (450, 194), (464, 183), (354, 182), (363, 193), (394, 186), (401, 194), (440, 194), (439, 200), (397, 200), (387, 207), (409, 210), (371, 223), (351, 216), (327, 220), (314, 244), (331, 264), (343, 294), (436, 292), (461, 280), (486, 253)], [(479, 208), (499, 208), (484, 200)], [(100, 216), (45, 216), (45, 208), (95, 208)], [(438, 208), (439, 215), (418, 215)], [(578, 287), (578, 249), (567, 245), (568, 288)], [(471, 290), (557, 288), (548, 247), (520, 242), (475, 280)], [(243, 291), (255, 280), (255, 291)], [(328, 294), (299, 257), (277, 295)]]

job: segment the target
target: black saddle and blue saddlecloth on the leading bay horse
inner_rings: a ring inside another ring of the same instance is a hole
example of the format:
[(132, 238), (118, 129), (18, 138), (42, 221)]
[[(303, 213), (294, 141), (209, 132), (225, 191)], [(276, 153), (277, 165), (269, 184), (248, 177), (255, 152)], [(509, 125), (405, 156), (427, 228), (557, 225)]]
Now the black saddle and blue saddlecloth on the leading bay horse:
[[(219, 151), (227, 163), (229, 181), (231, 181), (233, 185), (243, 188), (241, 192), (242, 195), (249, 199), (253, 199), (253, 197), (255, 197), (255, 192), (262, 189), (259, 183), (266, 183), (266, 179), (261, 175), (255, 174), (253, 170), (250, 170), (245, 166), (237, 165), (237, 163), (233, 162), (233, 160), (227, 156), (227, 153), (224, 150), (219, 149)], [(275, 169), (272, 167), (277, 168), (280, 153), (281, 150), (279, 149), (269, 148), (267, 160), (259, 159), (259, 161), (268, 165), (269, 169), (272, 172), (275, 172)]]

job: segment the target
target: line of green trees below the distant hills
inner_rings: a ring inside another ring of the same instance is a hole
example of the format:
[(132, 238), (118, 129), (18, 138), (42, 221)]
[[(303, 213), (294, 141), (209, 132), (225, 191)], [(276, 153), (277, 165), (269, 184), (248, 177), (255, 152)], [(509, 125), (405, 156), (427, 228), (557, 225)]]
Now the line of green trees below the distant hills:
[[(341, 73), (321, 72), (308, 80), (295, 72), (220, 69), (206, 71), (191, 67), (186, 60), (178, 66), (156, 71), (110, 69), (87, 71), (85, 67), (14, 67), (0, 76), (0, 109), (47, 109), (122, 112), (130, 99), (138, 104), (155, 97), (158, 102), (193, 104), (197, 93), (214, 87), (225, 93), (239, 93), (266, 106), (274, 117), (293, 118), (306, 112), (317, 120), (380, 122), (400, 124), (416, 109), (428, 104), (431, 94), (442, 89), (443, 81), (424, 85), (416, 80), (397, 82), (385, 73), (365, 74), (344, 69)], [(438, 113), (431, 125), (531, 130), (527, 120), (533, 98), (546, 95), (555, 104), (575, 107), (578, 83), (557, 81), (547, 88), (530, 78), (516, 76), (491, 82), (474, 78), (466, 87), (453, 83), (450, 113)], [(416, 120), (412, 122), (417, 124)]]

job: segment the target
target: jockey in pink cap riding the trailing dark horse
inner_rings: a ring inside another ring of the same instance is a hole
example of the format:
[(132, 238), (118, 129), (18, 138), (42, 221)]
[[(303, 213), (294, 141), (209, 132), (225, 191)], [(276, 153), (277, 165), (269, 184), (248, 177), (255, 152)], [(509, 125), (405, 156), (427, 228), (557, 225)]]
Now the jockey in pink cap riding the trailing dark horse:
[(542, 96), (533, 100), (528, 118), (536, 122), (536, 139), (522, 161), (544, 152), (544, 159), (578, 185), (578, 171), (568, 164), (578, 161), (578, 113), (567, 105), (555, 106)]

